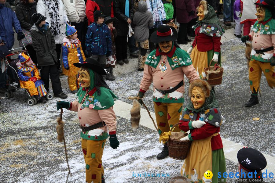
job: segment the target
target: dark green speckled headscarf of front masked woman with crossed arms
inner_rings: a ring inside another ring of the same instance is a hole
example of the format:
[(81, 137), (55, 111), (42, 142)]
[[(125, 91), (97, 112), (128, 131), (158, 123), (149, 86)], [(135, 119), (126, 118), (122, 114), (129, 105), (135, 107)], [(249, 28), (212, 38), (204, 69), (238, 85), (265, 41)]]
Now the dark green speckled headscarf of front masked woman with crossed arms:
[(195, 113), (204, 112), (207, 109), (216, 107), (218, 108), (218, 101), (216, 100), (215, 93), (213, 90), (210, 91), (210, 96), (206, 98), (205, 104), (200, 109), (194, 109), (193, 103), (191, 102), (191, 99), (189, 99), (188, 106), (186, 109), (191, 110)]

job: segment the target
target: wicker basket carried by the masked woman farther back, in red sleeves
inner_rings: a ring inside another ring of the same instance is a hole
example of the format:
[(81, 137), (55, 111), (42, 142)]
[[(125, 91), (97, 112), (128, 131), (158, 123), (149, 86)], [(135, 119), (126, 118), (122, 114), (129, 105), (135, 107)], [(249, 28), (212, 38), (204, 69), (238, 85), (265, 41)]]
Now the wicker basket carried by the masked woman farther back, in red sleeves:
[(209, 67), (205, 68), (206, 79), (212, 86), (222, 84), (223, 68), (218, 63), (211, 66), (213, 60), (210, 61)]

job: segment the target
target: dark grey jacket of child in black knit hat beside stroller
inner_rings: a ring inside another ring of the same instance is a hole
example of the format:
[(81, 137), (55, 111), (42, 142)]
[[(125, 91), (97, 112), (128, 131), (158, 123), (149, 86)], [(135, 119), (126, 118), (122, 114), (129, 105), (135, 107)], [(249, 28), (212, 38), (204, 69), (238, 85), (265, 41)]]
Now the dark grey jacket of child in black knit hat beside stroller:
[(36, 25), (31, 27), (32, 46), (36, 51), (37, 65), (51, 66), (57, 63), (55, 41), (49, 27), (46, 34), (43, 34)]

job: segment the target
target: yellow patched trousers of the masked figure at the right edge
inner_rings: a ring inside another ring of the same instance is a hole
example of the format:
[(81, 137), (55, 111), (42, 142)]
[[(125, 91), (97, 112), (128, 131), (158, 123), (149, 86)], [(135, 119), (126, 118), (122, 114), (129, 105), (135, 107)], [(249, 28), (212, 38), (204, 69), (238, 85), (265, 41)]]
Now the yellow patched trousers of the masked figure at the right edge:
[(275, 87), (274, 66), (271, 66), (269, 62), (260, 62), (251, 59), (249, 62), (249, 83), (252, 92), (253, 88), (255, 88), (255, 91), (259, 89), (262, 71), (266, 76), (266, 81), (270, 88)]

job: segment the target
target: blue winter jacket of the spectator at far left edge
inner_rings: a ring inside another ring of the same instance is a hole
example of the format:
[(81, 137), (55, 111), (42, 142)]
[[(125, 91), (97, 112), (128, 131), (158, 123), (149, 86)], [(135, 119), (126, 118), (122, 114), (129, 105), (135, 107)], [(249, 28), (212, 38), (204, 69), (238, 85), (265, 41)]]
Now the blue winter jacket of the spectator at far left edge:
[(8, 49), (11, 49), (14, 44), (14, 31), (16, 33), (22, 31), (20, 23), (11, 9), (9, 3), (0, 4), (0, 37)]

